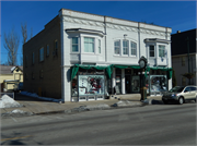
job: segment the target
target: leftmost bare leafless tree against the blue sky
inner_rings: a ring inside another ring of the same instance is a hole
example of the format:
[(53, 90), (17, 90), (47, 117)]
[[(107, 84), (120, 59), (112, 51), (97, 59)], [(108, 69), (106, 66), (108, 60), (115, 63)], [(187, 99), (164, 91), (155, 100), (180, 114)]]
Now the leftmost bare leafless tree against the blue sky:
[(8, 64), (16, 65), (16, 54), (19, 49), (20, 36), (14, 28), (9, 34), (4, 33), (4, 48), (8, 50)]

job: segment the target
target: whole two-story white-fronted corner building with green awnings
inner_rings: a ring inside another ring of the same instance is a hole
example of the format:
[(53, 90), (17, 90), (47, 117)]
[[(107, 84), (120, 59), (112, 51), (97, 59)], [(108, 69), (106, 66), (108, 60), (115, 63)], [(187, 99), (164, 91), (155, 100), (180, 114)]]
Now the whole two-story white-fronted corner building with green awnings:
[(171, 32), (61, 9), (23, 46), (24, 89), (65, 101), (139, 94), (138, 61), (143, 56), (150, 70), (148, 94), (161, 94), (172, 87)]

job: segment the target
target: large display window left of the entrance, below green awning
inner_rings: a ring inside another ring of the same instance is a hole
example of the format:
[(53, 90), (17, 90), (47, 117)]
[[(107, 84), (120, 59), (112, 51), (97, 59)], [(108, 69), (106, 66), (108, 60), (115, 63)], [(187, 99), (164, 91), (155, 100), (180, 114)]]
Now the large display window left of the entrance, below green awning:
[(79, 75), (79, 96), (104, 95), (104, 75)]

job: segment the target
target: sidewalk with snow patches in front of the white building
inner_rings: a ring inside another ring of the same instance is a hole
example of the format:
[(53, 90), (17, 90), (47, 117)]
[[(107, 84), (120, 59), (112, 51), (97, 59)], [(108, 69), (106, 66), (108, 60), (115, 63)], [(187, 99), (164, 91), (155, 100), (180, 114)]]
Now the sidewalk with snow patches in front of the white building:
[[(148, 97), (150, 98), (150, 97)], [(157, 98), (159, 99), (159, 97)], [(34, 114), (47, 114), (47, 113), (74, 113), (89, 110), (104, 110), (126, 107), (141, 107), (144, 106), (140, 101), (139, 97), (132, 97), (129, 99), (105, 99), (93, 101), (79, 101), (79, 102), (65, 102), (58, 104), (53, 101), (45, 101), (37, 98), (15, 94), (15, 101), (23, 107), (18, 108), (2, 108), (1, 117), (8, 115), (34, 115)], [(15, 112), (13, 112), (13, 110)]]

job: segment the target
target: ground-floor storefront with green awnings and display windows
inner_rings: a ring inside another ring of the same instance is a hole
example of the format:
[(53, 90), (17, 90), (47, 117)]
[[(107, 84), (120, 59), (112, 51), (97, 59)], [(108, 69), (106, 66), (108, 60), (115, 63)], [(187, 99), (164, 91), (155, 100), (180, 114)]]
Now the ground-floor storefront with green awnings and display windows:
[[(139, 65), (71, 66), (72, 101), (102, 100), (114, 94), (139, 94)], [(169, 89), (172, 68), (150, 68), (144, 72), (147, 94), (159, 95)]]

